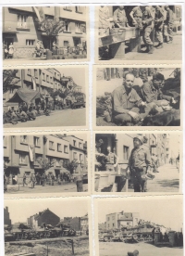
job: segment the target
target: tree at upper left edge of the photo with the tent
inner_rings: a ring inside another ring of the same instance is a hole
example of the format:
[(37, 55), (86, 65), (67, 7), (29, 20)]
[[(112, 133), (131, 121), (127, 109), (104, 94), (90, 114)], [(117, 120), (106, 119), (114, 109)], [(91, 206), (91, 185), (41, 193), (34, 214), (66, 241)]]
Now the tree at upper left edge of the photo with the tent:
[(16, 76), (18, 70), (3, 70), (3, 93), (9, 89), (16, 87), (20, 79)]

